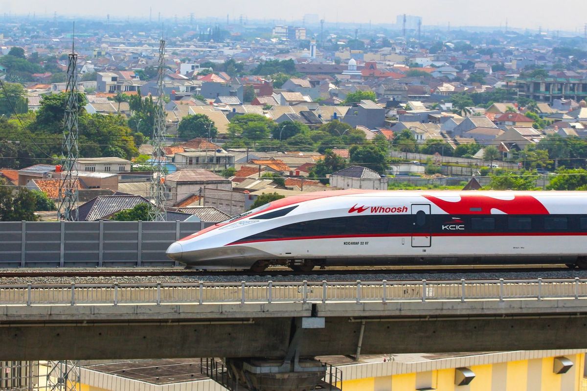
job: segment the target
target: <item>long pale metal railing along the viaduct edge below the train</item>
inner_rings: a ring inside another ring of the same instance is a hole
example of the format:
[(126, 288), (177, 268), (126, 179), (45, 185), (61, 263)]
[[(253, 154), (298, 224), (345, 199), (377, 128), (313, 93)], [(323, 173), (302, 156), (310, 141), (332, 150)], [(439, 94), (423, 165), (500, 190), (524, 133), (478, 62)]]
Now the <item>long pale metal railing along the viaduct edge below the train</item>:
[(484, 281), (0, 285), (0, 305), (392, 302), (587, 298), (587, 278)]

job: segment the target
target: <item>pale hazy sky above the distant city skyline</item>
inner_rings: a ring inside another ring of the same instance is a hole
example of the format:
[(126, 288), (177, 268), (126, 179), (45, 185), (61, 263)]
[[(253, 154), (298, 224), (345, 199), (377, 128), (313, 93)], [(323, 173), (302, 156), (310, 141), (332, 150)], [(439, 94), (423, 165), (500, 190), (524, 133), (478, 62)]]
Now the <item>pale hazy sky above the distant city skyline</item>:
[(153, 19), (158, 12), (162, 16), (194, 18), (215, 16), (226, 20), (227, 13), (233, 16), (246, 15), (249, 19), (301, 19), (305, 13), (318, 13), (326, 22), (394, 22), (396, 15), (407, 13), (423, 17), (424, 25), (451, 26), (499, 26), (517, 28), (560, 29), (583, 32), (587, 19), (587, 2), (584, 0), (0, 0), (0, 13), (10, 12), (26, 15), (93, 15), (96, 17), (149, 18), (152, 7)]

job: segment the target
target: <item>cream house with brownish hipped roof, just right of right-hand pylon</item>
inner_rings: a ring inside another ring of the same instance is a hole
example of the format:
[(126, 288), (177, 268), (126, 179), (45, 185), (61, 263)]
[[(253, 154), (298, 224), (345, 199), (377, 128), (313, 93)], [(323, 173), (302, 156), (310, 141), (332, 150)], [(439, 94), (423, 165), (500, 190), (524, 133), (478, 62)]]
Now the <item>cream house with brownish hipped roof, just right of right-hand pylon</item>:
[(193, 194), (200, 195), (204, 188), (231, 190), (232, 183), (213, 172), (192, 168), (166, 175), (165, 188), (166, 205), (171, 206)]

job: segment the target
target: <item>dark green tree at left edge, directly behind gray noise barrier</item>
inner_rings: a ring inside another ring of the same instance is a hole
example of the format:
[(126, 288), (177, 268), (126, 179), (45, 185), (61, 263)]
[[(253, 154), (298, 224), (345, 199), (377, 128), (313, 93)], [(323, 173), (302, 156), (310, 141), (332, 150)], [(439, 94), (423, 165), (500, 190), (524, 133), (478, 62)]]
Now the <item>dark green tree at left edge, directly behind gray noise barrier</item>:
[(14, 187), (0, 181), (0, 221), (36, 221), (36, 197), (26, 188), (14, 192)]

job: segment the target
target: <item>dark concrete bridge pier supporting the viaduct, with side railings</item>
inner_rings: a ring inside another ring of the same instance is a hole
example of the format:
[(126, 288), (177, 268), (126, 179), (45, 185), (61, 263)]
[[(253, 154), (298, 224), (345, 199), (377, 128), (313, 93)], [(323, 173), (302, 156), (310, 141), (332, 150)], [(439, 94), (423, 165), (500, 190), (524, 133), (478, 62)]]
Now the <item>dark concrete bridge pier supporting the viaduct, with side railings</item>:
[[(300, 358), (303, 330), (325, 328), (325, 318), (293, 318), (291, 338), (284, 359), (275, 358), (224, 358), (218, 362), (207, 360), (207, 375), (229, 390), (250, 391), (309, 391), (317, 386), (323, 390), (339, 390), (336, 383), (341, 377), (315, 358)], [(328, 375), (327, 375), (328, 372)]]

